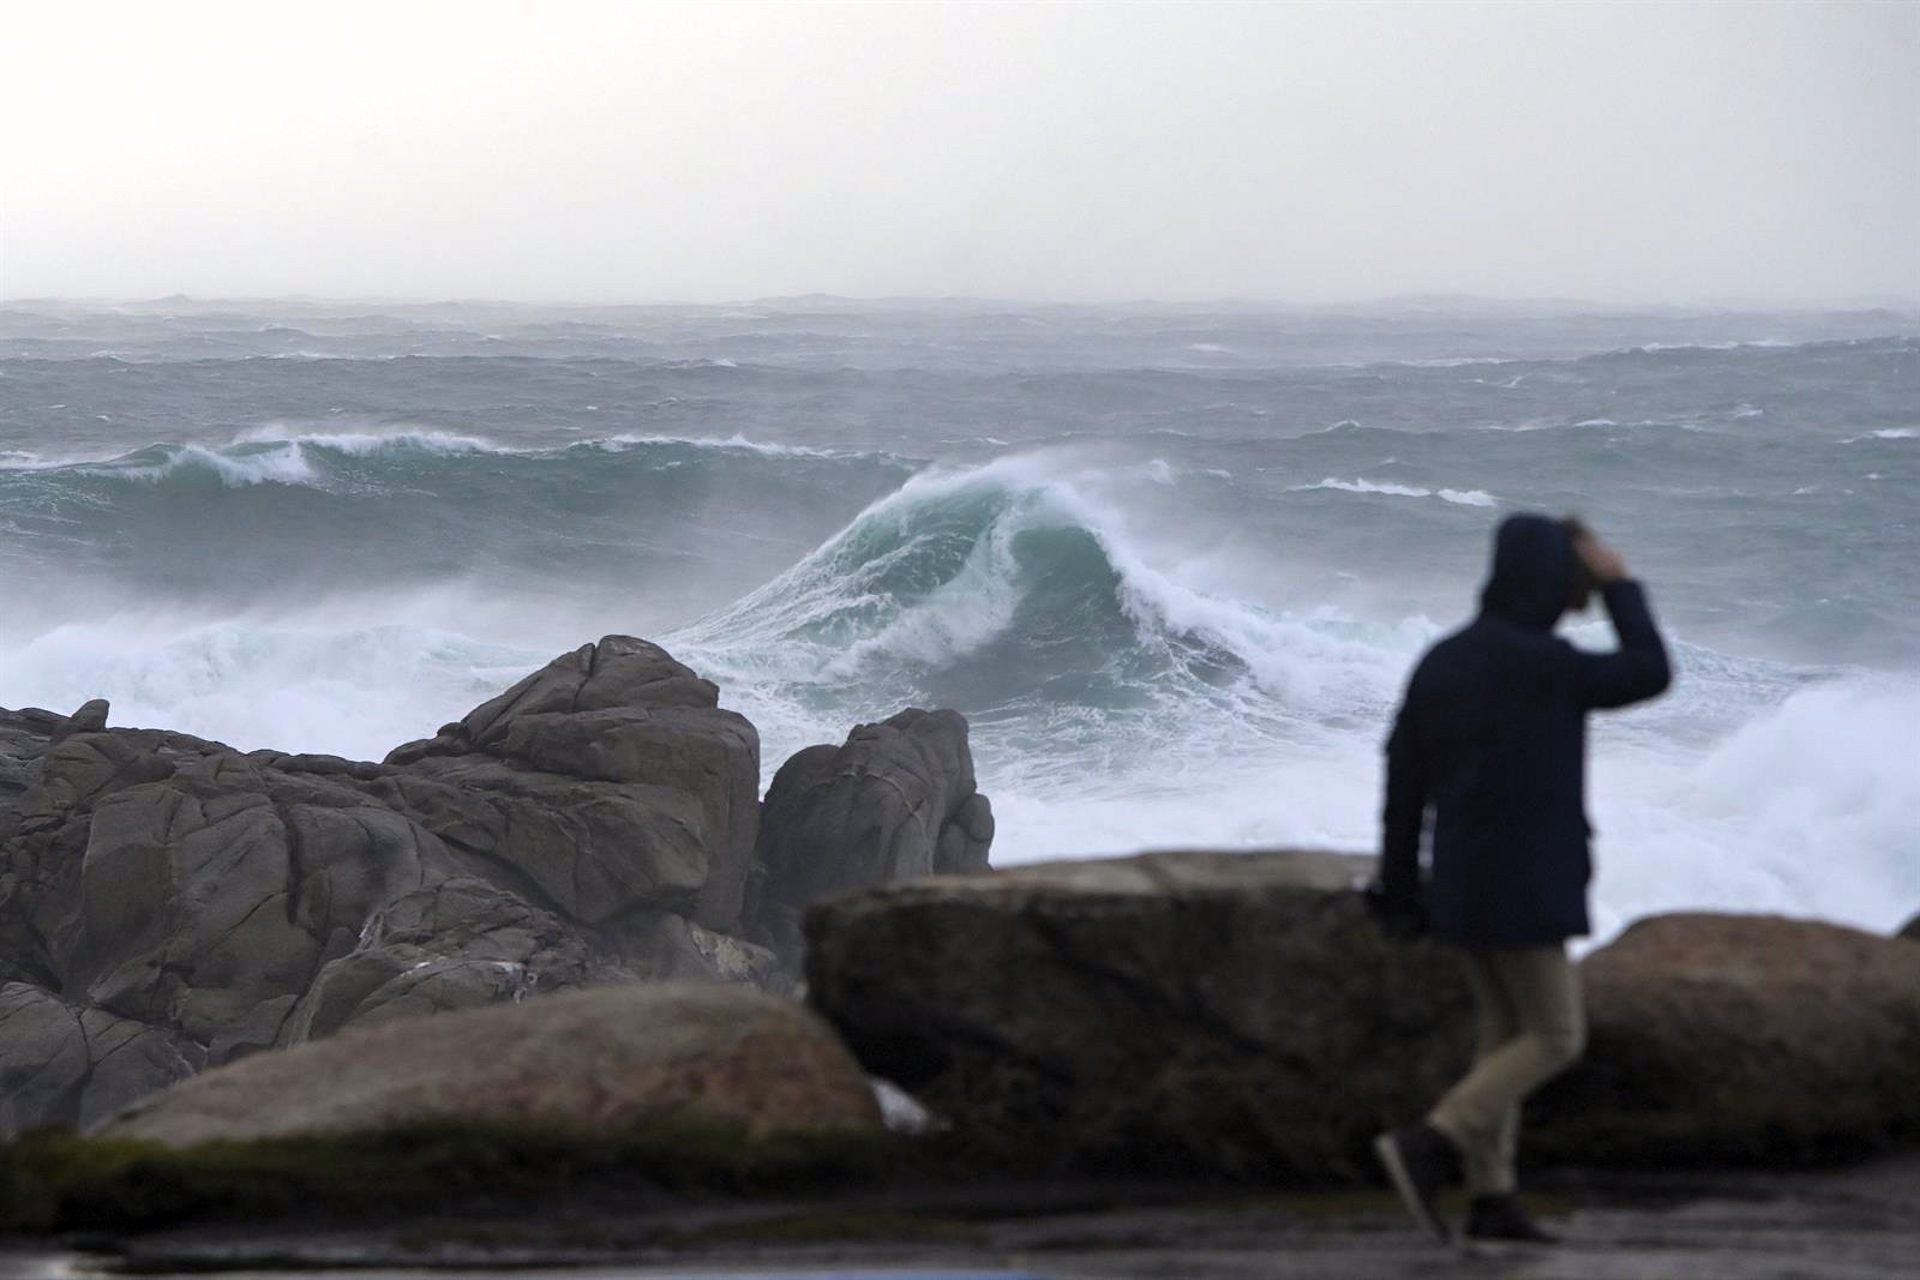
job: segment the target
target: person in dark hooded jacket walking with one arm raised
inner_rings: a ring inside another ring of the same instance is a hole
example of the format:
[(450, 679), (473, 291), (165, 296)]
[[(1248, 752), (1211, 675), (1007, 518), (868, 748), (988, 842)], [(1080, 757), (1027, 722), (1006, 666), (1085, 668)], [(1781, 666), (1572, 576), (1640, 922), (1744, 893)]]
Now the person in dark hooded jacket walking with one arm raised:
[[(1553, 635), (1597, 587), (1613, 652)], [(1647, 599), (1578, 520), (1517, 514), (1494, 537), (1478, 616), (1421, 658), (1386, 741), (1380, 871), (1394, 933), (1459, 950), (1478, 1009), (1473, 1069), (1375, 1148), (1413, 1217), (1448, 1240), (1436, 1199), (1465, 1176), (1465, 1236), (1551, 1242), (1515, 1197), (1521, 1102), (1586, 1044), (1567, 938), (1588, 933), (1586, 714), (1670, 681)], [(1421, 839), (1432, 814), (1430, 867)]]

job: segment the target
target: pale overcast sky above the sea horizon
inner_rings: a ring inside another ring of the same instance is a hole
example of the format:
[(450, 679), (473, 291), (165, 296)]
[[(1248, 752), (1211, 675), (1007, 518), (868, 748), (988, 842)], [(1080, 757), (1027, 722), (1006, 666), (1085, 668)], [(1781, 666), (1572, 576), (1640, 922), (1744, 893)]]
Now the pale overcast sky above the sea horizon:
[(1920, 4), (0, 17), (0, 297), (1920, 297)]

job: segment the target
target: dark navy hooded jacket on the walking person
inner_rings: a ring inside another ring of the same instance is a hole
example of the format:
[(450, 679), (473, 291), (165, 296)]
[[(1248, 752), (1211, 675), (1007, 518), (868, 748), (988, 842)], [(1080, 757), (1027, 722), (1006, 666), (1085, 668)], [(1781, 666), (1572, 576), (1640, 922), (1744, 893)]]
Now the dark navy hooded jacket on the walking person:
[(1601, 587), (1620, 637), (1586, 652), (1553, 635), (1580, 578), (1559, 520), (1511, 516), (1494, 539), (1480, 614), (1421, 658), (1386, 741), (1380, 883), (1423, 894), (1434, 936), (1548, 946), (1588, 933), (1586, 712), (1642, 702), (1670, 672), (1636, 581)]

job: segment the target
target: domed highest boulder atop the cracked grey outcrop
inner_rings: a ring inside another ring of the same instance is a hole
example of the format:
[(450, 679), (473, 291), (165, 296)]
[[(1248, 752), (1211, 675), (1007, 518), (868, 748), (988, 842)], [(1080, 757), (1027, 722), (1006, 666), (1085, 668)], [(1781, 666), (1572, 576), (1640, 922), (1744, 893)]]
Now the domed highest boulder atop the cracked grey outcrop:
[(582, 645), (386, 764), (397, 808), (524, 877), (543, 906), (739, 925), (760, 739), (659, 645)]

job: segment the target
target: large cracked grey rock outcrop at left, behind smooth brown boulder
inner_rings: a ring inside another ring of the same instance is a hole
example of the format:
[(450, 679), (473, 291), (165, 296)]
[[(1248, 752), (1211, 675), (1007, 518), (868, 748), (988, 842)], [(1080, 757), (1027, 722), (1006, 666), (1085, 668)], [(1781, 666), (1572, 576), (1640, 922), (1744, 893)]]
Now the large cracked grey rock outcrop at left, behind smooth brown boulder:
[[(33, 1029), (0, 1044), (0, 1136), (353, 1025), (791, 983), (741, 919), (758, 735), (647, 641), (563, 654), (382, 764), (108, 712), (0, 712), (0, 984)], [(966, 722), (916, 716), (941, 725), (925, 794), (964, 808)]]

